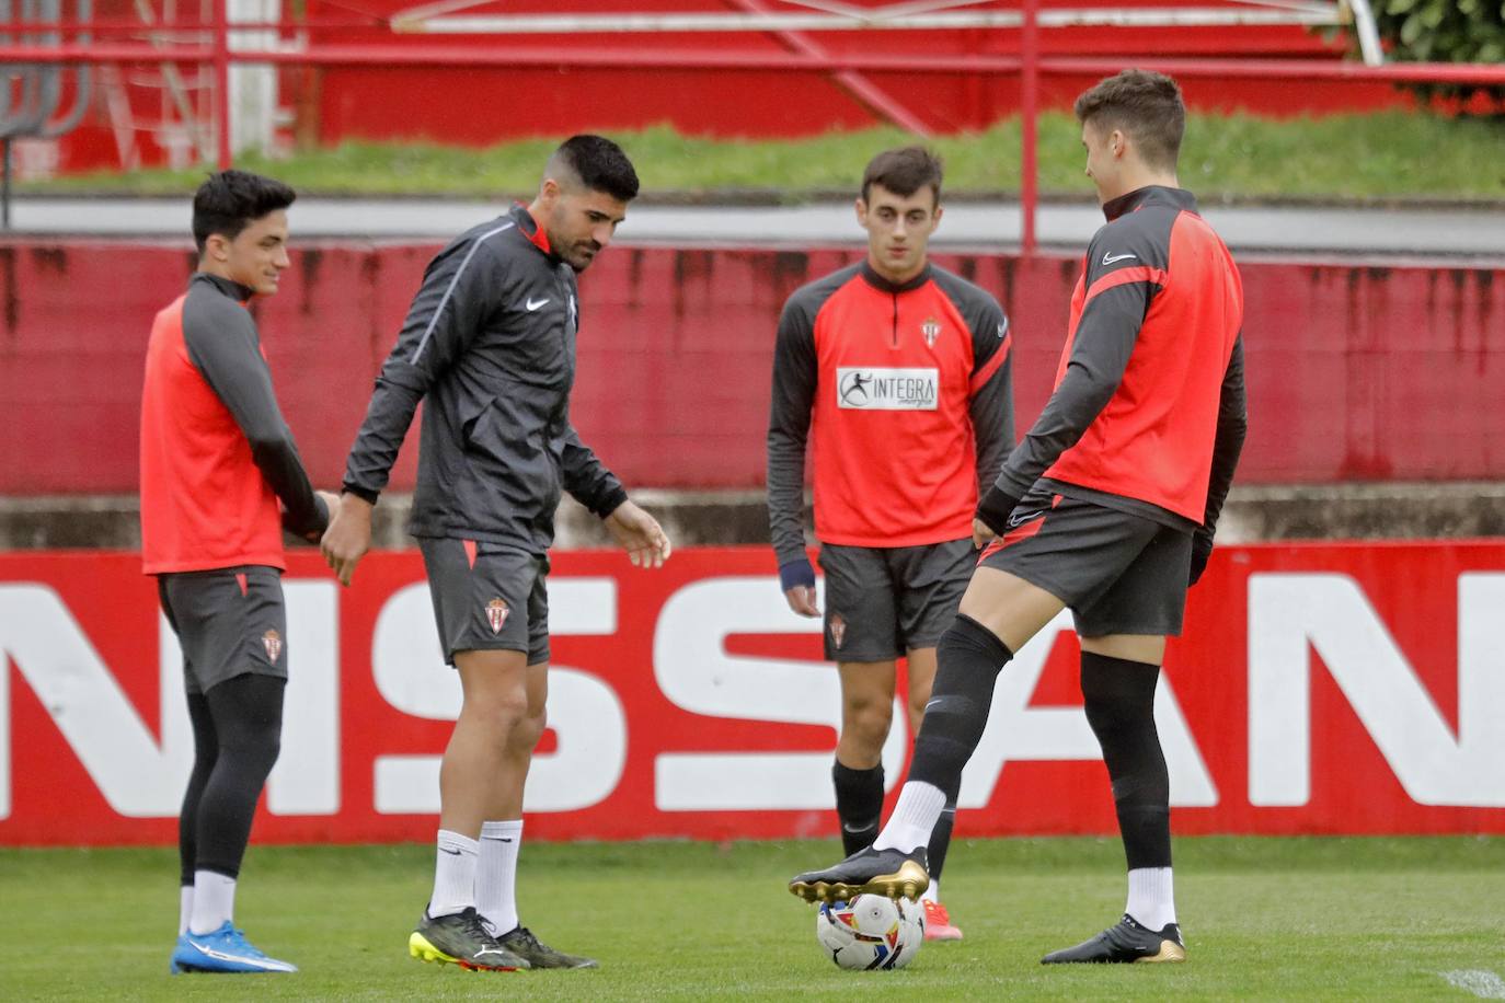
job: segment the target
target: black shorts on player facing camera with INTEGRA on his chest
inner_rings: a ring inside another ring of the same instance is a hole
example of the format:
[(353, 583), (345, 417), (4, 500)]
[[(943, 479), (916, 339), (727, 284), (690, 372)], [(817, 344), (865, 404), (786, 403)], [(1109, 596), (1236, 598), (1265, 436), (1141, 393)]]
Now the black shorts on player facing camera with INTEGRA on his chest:
[(972, 577), (972, 540), (915, 547), (820, 547), (826, 574), (826, 657), (891, 662), (933, 648)]

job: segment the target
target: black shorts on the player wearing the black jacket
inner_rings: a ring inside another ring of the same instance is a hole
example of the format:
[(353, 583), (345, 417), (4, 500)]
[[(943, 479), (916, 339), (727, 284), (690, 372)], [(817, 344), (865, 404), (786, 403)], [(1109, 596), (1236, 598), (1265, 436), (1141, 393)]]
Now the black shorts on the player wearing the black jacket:
[(524, 651), (528, 665), (549, 660), (549, 559), (471, 540), (418, 540), (429, 573), (433, 620), (444, 660), (456, 651)]

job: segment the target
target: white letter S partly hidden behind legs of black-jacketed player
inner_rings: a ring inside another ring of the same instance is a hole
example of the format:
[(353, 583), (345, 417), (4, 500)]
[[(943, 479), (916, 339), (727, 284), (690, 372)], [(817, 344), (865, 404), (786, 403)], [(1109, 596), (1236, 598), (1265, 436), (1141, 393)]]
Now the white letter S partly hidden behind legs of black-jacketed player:
[[(549, 582), (549, 632), (617, 632), (617, 583), (610, 577)], [(372, 638), (372, 675), (382, 698), (405, 714), (455, 720), (461, 684), (444, 665), (427, 583), (409, 585), (387, 600)], [(628, 714), (600, 677), (549, 666), (549, 728), (558, 750), (536, 755), (522, 806), (530, 812), (570, 812), (605, 800), (628, 762)], [(439, 811), (439, 756), (376, 758), (375, 800), (384, 815)]]

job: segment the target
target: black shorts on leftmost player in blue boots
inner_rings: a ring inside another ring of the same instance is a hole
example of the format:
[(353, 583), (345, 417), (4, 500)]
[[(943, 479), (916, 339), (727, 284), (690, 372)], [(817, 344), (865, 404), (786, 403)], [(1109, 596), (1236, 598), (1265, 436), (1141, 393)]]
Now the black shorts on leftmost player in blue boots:
[(287, 678), (287, 611), (277, 568), (160, 574), (157, 595), (184, 651), (190, 693), (247, 672)]

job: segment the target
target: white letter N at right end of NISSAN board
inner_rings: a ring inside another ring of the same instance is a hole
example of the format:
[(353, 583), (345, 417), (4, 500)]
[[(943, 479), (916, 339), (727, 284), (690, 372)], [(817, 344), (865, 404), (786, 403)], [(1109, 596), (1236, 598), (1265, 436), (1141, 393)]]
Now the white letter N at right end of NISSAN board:
[(1419, 805), (1505, 806), (1505, 574), (1458, 576), (1458, 731), (1454, 737), (1345, 574), (1249, 576), (1249, 803), (1311, 797), (1311, 653)]

